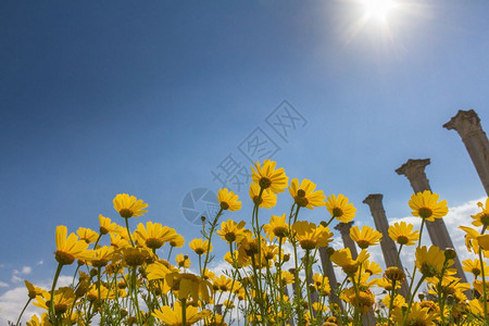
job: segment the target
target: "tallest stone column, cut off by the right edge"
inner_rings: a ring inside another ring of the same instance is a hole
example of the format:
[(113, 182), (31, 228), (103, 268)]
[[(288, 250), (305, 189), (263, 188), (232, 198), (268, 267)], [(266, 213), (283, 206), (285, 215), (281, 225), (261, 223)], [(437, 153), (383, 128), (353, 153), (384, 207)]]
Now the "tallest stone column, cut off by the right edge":
[(489, 196), (489, 141), (480, 126), (480, 118), (474, 110), (460, 110), (443, 128), (455, 129), (471, 155), (484, 189)]

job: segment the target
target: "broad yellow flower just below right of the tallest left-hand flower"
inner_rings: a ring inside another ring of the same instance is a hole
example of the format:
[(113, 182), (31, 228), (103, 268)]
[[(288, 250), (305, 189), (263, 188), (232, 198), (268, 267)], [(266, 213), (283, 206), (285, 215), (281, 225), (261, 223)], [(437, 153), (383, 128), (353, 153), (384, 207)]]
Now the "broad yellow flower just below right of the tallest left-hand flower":
[(172, 240), (176, 231), (173, 228), (163, 226), (161, 223), (152, 223), (149, 221), (146, 223), (146, 227), (142, 223), (139, 223), (134, 235), (140, 246), (159, 249), (165, 242)]

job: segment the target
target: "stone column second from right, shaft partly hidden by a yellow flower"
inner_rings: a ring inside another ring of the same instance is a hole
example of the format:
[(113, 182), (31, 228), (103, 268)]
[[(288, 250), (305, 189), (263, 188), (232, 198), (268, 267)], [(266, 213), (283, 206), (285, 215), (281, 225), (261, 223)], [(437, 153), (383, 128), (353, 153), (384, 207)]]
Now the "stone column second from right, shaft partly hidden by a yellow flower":
[[(429, 180), (426, 177), (425, 167), (430, 163), (429, 159), (425, 160), (412, 160), (409, 159), (406, 163), (402, 164), (401, 167), (396, 170), (399, 175), (404, 175), (411, 183), (411, 187), (414, 192), (423, 192), (425, 190), (430, 190)], [(452, 239), (448, 233), (447, 225), (443, 218), (435, 218), (435, 222), (426, 222), (426, 228), (428, 229), (429, 238), (431, 243), (444, 250), (447, 248), (453, 248)], [(456, 276), (462, 279), (463, 283), (467, 281), (465, 273), (460, 263), (459, 255), (454, 259), (456, 268)]]

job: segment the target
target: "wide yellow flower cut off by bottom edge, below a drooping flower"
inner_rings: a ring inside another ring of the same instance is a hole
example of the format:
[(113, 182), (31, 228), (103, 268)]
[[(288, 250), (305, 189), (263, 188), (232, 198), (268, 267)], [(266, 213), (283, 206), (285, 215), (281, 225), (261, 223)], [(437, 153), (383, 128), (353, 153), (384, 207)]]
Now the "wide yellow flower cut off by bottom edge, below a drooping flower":
[[(187, 325), (196, 324), (205, 316), (210, 316), (212, 314), (209, 310), (199, 312), (198, 308), (191, 305), (188, 305), (185, 311)], [(163, 305), (161, 309), (154, 310), (151, 315), (162, 321), (165, 325), (184, 325), (184, 321), (181, 317), (181, 304), (178, 301), (175, 302), (173, 309), (168, 305)]]

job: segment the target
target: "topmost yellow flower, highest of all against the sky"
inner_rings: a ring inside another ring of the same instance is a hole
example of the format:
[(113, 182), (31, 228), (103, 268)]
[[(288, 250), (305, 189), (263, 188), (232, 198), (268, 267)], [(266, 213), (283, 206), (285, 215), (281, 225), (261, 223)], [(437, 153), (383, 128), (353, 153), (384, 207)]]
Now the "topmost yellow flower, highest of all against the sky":
[(251, 178), (262, 189), (269, 189), (274, 193), (279, 193), (287, 188), (289, 178), (285, 174), (284, 167), (275, 170), (277, 163), (271, 160), (265, 160), (263, 165), (256, 162), (251, 167)]

